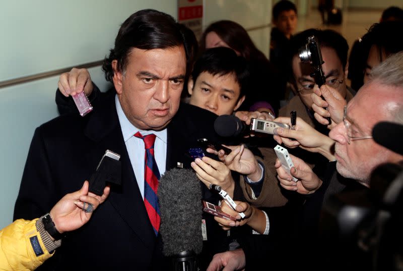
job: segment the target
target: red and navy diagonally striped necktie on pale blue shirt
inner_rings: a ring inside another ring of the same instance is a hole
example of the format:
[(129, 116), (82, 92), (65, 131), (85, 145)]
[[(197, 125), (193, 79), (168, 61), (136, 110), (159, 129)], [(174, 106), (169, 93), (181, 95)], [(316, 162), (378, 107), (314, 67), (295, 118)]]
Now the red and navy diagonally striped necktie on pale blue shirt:
[(146, 205), (155, 235), (158, 235), (160, 228), (160, 208), (158, 206), (157, 188), (161, 176), (154, 158), (154, 142), (156, 135), (149, 134), (143, 136), (140, 132), (137, 132), (135, 137), (143, 139), (146, 149), (144, 155), (144, 205)]

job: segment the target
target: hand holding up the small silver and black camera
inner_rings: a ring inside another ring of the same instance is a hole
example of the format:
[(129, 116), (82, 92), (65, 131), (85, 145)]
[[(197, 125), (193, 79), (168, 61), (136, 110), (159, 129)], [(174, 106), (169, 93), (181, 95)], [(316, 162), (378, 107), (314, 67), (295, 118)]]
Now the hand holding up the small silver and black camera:
[[(323, 96), (324, 100), (320, 96)], [(331, 129), (343, 121), (344, 106), (347, 101), (337, 89), (327, 85), (322, 85), (319, 89), (315, 85), (311, 98), (313, 101), (312, 110), (315, 112), (314, 117), (319, 123), (327, 125), (327, 128)], [(327, 110), (324, 107), (327, 107)], [(328, 117), (332, 121), (331, 125), (328, 125), (329, 122), (325, 119)]]

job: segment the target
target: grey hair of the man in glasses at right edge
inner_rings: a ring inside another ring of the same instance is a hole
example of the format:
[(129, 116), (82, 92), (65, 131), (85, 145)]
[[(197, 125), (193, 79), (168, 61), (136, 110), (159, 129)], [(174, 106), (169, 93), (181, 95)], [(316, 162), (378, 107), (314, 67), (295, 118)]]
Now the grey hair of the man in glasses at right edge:
[(374, 67), (370, 74), (370, 81), (403, 88), (403, 51), (390, 55), (385, 61)]

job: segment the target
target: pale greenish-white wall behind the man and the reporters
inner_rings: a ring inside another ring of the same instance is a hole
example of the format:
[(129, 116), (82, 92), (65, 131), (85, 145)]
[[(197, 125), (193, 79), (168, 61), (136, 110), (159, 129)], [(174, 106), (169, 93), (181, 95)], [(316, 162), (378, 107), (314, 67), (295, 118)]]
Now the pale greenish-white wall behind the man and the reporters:
[[(245, 28), (270, 23), (271, 0), (205, 0), (205, 24), (229, 19)], [(157, 9), (176, 18), (176, 0), (3, 0), (0, 82), (102, 60), (120, 24), (133, 12)], [(270, 29), (250, 31), (264, 53)], [(92, 80), (107, 89), (100, 67)], [(57, 116), (58, 76), (0, 88), (0, 229), (12, 222), (22, 172), (36, 127)], [(44, 195), (46, 196), (46, 195)]]

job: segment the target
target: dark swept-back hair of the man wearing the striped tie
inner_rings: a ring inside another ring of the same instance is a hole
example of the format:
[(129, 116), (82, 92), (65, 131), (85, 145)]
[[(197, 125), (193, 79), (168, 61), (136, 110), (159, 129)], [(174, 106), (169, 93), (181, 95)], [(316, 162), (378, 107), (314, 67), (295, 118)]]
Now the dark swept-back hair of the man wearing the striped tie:
[(186, 60), (189, 48), (179, 24), (175, 19), (156, 10), (141, 10), (130, 15), (120, 26), (115, 39), (115, 47), (105, 57), (102, 70), (107, 81), (112, 81), (112, 61), (117, 60), (118, 71), (124, 72), (127, 58), (132, 48), (144, 50), (164, 49), (183, 45)]

